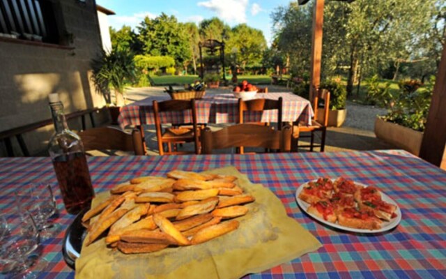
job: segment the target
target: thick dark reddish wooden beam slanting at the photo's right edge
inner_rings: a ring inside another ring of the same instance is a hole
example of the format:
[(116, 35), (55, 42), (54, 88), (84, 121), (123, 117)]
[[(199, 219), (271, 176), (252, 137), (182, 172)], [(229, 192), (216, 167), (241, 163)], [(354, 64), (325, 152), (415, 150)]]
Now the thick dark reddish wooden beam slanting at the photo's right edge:
[[(420, 158), (446, 169), (446, 46), (438, 67)], [(443, 161), (443, 163), (442, 163)]]

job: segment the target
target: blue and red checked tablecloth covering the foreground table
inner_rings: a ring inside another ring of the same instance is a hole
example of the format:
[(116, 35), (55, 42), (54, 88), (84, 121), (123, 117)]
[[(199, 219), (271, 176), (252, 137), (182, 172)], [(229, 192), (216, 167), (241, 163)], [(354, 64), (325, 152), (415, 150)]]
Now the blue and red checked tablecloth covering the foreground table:
[[(317, 252), (252, 278), (445, 278), (446, 172), (405, 151), (89, 158), (96, 193), (135, 176), (226, 165), (270, 188), (289, 216), (323, 243)], [(317, 223), (299, 209), (295, 190), (318, 176), (346, 176), (378, 186), (401, 207), (400, 225), (383, 234), (361, 235)], [(57, 188), (49, 158), (0, 158), (1, 211), (13, 206), (15, 189), (46, 182)], [(59, 190), (56, 194), (60, 214), (54, 222), (61, 231), (43, 243), (49, 265), (40, 277), (72, 278), (74, 272), (63, 262), (61, 242), (74, 216), (63, 209)]]

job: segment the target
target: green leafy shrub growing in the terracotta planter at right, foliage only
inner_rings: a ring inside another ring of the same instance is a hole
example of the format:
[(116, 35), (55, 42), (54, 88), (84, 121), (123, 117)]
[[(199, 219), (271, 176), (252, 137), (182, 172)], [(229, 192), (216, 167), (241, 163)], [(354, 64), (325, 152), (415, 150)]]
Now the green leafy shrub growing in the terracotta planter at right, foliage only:
[(389, 111), (382, 119), (423, 132), (431, 106), (433, 84), (435, 77), (421, 88), (420, 82), (401, 82), (399, 93), (390, 101)]

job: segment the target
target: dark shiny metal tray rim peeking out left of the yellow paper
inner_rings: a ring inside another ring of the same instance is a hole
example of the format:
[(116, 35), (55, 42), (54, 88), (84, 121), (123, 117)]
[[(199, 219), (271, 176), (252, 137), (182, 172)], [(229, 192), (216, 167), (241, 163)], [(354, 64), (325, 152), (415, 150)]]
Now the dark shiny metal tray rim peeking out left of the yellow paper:
[(76, 259), (80, 256), (82, 250), (82, 243), (86, 236), (86, 228), (82, 226), (82, 217), (89, 209), (83, 209), (79, 212), (75, 220), (65, 232), (63, 238), (62, 254), (65, 262), (72, 269), (75, 269)]

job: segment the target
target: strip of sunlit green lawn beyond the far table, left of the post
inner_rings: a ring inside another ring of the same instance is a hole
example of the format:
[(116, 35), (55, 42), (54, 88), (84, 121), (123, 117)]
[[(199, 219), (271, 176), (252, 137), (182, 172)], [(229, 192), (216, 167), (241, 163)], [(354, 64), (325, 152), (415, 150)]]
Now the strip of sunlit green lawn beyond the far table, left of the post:
[[(198, 75), (153, 75), (151, 79), (154, 82), (154, 86), (162, 85), (183, 85), (190, 84), (195, 80), (199, 80)], [(226, 76), (226, 80), (231, 81), (231, 75)], [(238, 82), (247, 80), (252, 84), (270, 84), (271, 77), (269, 75), (239, 75)]]

